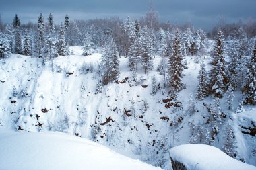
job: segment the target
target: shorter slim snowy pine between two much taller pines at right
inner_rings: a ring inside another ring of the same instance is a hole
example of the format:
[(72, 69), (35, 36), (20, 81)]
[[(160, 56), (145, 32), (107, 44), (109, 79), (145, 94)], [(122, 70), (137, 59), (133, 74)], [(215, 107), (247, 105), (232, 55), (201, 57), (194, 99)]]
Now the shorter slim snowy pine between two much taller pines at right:
[(207, 86), (207, 71), (205, 69), (204, 60), (201, 61), (201, 69), (199, 70), (198, 86), (197, 86), (197, 99), (203, 99), (207, 96), (208, 86)]

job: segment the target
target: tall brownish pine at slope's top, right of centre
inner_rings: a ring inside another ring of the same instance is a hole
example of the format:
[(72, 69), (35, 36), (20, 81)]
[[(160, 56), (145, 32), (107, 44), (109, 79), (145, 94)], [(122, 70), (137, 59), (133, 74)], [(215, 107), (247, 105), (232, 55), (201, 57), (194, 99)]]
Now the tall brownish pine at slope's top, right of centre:
[(168, 86), (170, 88), (169, 92), (175, 96), (185, 86), (181, 82), (185, 66), (181, 55), (180, 33), (178, 30), (175, 33), (172, 46), (172, 56), (169, 57), (168, 61)]

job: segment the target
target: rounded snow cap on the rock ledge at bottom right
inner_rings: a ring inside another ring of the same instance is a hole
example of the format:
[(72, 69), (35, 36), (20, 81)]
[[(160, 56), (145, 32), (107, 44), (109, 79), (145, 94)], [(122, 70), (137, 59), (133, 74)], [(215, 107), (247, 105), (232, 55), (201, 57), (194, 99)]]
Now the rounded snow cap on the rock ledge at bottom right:
[(170, 157), (189, 169), (255, 170), (256, 167), (229, 157), (220, 149), (203, 144), (184, 144), (170, 149)]

